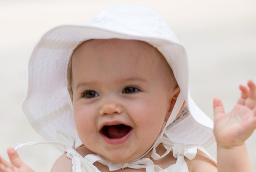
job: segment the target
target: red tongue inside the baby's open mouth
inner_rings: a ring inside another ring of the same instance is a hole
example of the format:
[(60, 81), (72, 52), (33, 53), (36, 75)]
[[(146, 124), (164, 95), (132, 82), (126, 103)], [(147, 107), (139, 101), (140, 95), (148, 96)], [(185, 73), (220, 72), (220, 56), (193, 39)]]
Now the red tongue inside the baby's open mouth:
[(110, 125), (108, 126), (106, 136), (110, 139), (117, 139), (125, 136), (129, 131), (131, 130), (131, 127), (126, 125)]

